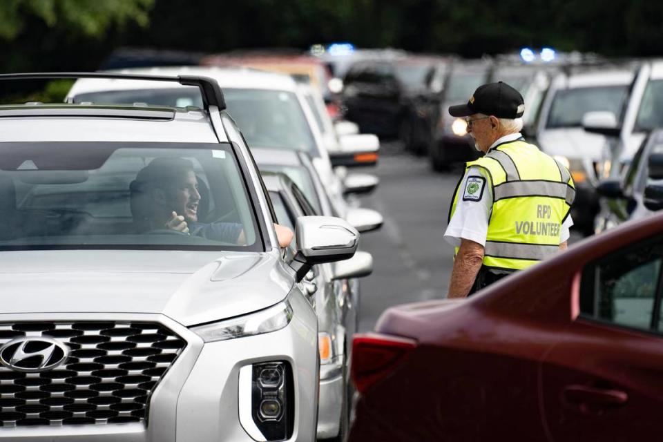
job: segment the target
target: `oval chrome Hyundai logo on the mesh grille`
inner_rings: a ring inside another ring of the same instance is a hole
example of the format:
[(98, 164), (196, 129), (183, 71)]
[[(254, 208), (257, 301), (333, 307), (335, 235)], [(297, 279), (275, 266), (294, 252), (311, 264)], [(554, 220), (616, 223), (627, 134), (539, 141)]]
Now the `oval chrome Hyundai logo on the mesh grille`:
[(53, 338), (16, 338), (0, 347), (0, 363), (17, 372), (46, 372), (64, 363), (67, 356), (69, 347)]

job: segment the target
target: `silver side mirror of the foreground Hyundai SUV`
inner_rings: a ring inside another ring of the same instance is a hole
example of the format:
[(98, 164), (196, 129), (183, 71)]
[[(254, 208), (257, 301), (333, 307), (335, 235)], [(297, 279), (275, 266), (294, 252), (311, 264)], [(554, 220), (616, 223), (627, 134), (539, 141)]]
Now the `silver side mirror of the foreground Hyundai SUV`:
[(354, 256), (359, 232), (333, 216), (300, 216), (296, 227), (297, 253), (291, 267), (297, 282), (316, 264), (347, 260)]

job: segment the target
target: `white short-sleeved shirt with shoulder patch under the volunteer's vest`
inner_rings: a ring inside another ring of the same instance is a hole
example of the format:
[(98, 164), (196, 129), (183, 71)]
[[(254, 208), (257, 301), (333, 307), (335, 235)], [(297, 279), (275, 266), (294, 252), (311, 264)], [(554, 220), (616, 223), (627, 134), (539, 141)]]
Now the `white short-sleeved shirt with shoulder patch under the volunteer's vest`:
[[(488, 150), (490, 151), (498, 144), (518, 140), (520, 137), (522, 137), (520, 133), (504, 135), (494, 142)], [(470, 177), (471, 183), (468, 183), (468, 177)], [(483, 181), (476, 177), (483, 177)], [(492, 192), (487, 191), (490, 186), (492, 186), (490, 175), (482, 167), (470, 167), (468, 172), (465, 173), (461, 186), (459, 186), (459, 192), (467, 193), (472, 190), (472, 194), (467, 195), (468, 198), (462, 198), (462, 195), (458, 198), (454, 215), (449, 220), (447, 230), (444, 232), (444, 239), (449, 244), (459, 247), (461, 238), (463, 238), (486, 246), (488, 220), (492, 211)], [(561, 230), (559, 231), (560, 243), (568, 240), (570, 236), (568, 229), (571, 226), (573, 226), (573, 220), (571, 215), (568, 215), (561, 224)]]

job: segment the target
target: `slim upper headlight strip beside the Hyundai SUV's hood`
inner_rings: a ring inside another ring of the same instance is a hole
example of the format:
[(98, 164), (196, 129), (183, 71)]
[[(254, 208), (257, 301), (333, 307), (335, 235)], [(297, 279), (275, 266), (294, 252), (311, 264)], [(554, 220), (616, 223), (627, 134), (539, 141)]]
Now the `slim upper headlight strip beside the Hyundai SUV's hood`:
[(238, 316), (237, 318), (220, 320), (216, 323), (191, 327), (191, 330), (206, 343), (212, 343), (217, 340), (276, 332), (276, 330), (280, 330), (290, 323), (292, 315), (292, 307), (285, 300), (264, 310)]

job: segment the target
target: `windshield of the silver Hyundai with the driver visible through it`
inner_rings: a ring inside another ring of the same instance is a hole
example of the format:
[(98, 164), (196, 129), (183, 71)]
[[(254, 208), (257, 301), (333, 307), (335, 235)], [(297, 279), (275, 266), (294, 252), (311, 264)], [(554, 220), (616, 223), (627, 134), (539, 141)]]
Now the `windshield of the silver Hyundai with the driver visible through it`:
[(262, 249), (229, 144), (0, 143), (0, 209), (0, 249)]

